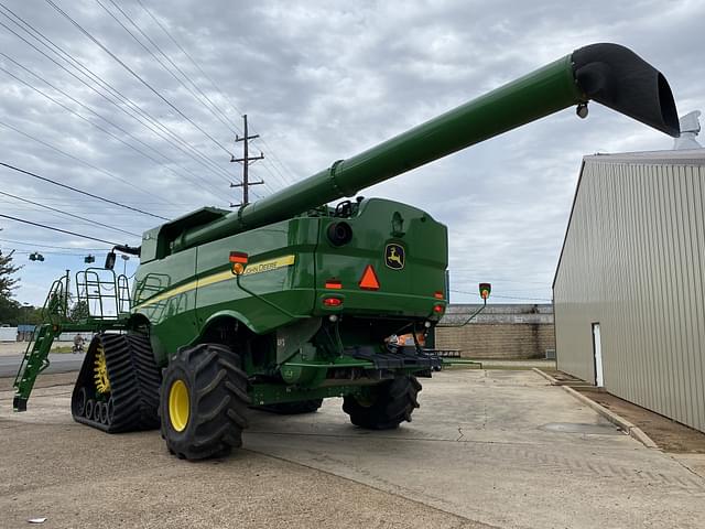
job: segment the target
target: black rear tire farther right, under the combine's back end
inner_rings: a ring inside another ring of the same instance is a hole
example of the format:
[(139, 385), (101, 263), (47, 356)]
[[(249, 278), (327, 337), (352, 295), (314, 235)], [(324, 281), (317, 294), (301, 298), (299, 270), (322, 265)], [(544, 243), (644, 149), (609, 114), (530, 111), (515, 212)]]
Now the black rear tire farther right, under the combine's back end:
[(343, 399), (343, 411), (350, 422), (368, 430), (392, 430), (403, 421), (411, 422), (411, 413), (419, 408), (416, 396), (421, 384), (413, 376), (397, 377), (380, 384), (371, 406), (362, 406), (348, 396)]

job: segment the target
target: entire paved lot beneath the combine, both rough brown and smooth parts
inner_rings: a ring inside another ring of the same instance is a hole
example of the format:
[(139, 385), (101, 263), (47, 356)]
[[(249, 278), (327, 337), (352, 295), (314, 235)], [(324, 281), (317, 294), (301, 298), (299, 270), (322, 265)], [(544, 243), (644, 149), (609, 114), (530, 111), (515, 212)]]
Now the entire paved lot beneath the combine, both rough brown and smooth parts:
[(158, 432), (76, 424), (70, 375), (29, 411), (0, 385), (0, 527), (702, 528), (705, 462), (647, 449), (532, 371), (423, 380), (414, 421), (253, 412), (246, 450), (188, 463)]

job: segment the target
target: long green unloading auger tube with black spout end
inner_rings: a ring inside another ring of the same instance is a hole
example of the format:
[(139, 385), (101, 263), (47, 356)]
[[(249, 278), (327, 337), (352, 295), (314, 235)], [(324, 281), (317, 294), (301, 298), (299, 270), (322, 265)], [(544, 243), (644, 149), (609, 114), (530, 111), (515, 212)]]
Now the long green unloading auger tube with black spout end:
[(573, 105), (600, 102), (680, 134), (665, 77), (627, 47), (592, 44), (224, 218), (186, 229), (172, 251), (291, 218)]

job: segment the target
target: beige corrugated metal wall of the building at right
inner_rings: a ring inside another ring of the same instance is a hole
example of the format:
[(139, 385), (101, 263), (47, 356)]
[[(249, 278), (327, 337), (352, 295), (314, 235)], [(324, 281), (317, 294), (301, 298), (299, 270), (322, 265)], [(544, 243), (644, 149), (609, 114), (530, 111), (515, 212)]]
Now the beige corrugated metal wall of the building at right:
[(554, 282), (558, 369), (705, 431), (705, 150), (586, 156)]

